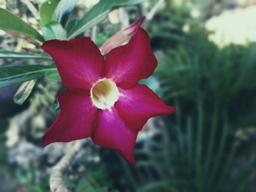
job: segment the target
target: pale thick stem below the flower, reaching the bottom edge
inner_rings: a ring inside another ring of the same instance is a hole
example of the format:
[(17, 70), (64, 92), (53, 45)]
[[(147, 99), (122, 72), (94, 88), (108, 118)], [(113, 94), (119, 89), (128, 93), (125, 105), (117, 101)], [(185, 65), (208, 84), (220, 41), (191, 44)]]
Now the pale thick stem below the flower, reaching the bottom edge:
[(67, 171), (69, 164), (81, 147), (81, 140), (71, 141), (67, 143), (65, 156), (63, 156), (58, 164), (52, 168), (50, 176), (50, 188), (52, 192), (72, 192), (68, 189), (63, 175)]

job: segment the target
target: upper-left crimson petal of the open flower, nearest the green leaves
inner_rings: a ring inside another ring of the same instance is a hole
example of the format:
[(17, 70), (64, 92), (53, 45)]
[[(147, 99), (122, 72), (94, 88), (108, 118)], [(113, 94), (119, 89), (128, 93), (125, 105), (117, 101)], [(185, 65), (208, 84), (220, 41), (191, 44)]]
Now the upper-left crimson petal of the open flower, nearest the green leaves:
[(41, 47), (55, 61), (62, 84), (69, 90), (90, 90), (99, 80), (104, 65), (104, 56), (90, 37), (81, 36), (73, 40), (48, 40)]

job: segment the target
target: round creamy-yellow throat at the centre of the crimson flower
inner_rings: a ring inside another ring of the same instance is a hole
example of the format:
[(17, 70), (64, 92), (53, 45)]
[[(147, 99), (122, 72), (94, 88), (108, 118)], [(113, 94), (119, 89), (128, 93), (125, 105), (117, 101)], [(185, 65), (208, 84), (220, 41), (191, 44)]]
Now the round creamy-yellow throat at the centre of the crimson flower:
[(110, 109), (119, 95), (116, 84), (109, 79), (100, 79), (91, 89), (92, 102), (99, 109)]

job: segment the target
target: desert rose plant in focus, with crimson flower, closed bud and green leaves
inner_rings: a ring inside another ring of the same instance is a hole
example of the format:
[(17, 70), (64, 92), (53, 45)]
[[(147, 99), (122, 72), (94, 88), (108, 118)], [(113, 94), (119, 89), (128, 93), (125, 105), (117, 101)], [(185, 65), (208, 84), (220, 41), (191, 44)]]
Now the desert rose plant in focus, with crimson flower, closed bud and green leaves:
[(113, 8), (141, 2), (102, 0), (81, 19), (69, 20), (76, 1), (44, 1), (37, 19), (42, 35), (0, 8), (0, 29), (38, 47), (25, 47), (30, 53), (1, 50), (0, 58), (54, 61), (51, 65), (1, 67), (0, 88), (24, 83), (15, 95), (15, 102), (22, 104), (35, 84), (33, 79), (60, 79), (64, 87), (56, 100), (60, 114), (45, 132), (44, 146), (91, 137), (96, 145), (113, 148), (128, 163), (136, 164), (133, 151), (138, 131), (149, 118), (175, 112), (175, 107), (167, 106), (147, 86), (138, 84), (157, 67), (150, 38), (140, 27), (145, 17), (116, 33), (102, 47), (97, 47), (90, 37), (80, 36), (106, 19)]

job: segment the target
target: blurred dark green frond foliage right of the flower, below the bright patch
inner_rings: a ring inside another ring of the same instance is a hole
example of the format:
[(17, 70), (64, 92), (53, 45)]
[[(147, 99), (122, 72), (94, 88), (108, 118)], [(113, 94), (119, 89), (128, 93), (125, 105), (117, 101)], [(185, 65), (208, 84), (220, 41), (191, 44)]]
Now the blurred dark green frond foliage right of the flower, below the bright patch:
[(125, 172), (123, 191), (256, 190), (256, 44), (220, 49), (202, 25), (209, 15), (189, 13), (170, 3), (149, 26), (152, 49), (161, 49), (157, 93), (177, 111), (138, 143), (138, 165), (108, 163)]

